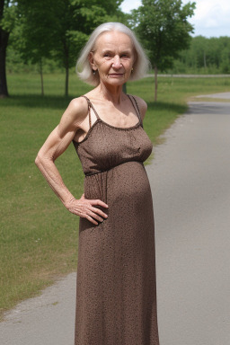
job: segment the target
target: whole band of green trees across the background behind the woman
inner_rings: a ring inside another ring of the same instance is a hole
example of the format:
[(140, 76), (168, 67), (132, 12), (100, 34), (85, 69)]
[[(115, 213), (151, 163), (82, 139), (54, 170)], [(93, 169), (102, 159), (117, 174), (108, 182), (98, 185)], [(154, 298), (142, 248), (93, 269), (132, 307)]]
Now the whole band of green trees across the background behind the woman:
[[(122, 0), (0, 0), (0, 97), (8, 95), (5, 58), (9, 71), (65, 70), (75, 66), (88, 35), (102, 22), (124, 22), (137, 32), (157, 72), (230, 73), (230, 38), (190, 37), (187, 19), (195, 4), (181, 0), (143, 0), (131, 15), (122, 13)], [(24, 65), (23, 65), (24, 64)]]

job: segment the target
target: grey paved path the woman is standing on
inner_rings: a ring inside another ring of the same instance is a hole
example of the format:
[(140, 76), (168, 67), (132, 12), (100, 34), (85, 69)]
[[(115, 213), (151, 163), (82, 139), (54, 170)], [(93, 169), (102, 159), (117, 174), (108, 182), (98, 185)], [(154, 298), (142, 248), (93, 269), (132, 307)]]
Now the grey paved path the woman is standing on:
[[(146, 167), (155, 205), (161, 345), (228, 345), (230, 103), (190, 103), (164, 137)], [(13, 309), (0, 323), (0, 343), (73, 345), (74, 323), (70, 274)]]

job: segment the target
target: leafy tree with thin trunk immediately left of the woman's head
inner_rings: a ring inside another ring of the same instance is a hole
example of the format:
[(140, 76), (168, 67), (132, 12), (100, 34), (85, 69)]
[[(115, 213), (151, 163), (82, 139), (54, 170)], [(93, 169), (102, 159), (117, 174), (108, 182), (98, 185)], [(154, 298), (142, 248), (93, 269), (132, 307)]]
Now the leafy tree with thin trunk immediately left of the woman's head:
[(102, 22), (123, 18), (119, 4), (123, 0), (56, 0), (57, 30), (54, 31), (54, 57), (66, 69), (65, 94), (68, 93), (68, 72), (89, 34)]

